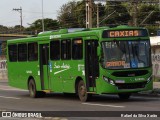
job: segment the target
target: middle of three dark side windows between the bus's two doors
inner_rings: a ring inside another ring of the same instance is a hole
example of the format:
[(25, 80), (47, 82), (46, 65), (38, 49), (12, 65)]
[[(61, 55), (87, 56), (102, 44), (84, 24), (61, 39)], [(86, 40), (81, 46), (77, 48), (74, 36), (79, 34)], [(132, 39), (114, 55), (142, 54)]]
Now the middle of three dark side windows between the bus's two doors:
[(62, 60), (71, 59), (71, 41), (70, 40), (61, 41), (61, 58)]

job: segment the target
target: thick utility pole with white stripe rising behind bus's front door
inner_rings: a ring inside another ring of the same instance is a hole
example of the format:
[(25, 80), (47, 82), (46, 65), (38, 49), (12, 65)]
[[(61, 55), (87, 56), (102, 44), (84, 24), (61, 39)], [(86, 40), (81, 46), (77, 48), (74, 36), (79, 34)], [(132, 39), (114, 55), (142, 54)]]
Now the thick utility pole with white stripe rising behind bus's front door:
[(92, 28), (92, 0), (86, 0), (86, 28)]

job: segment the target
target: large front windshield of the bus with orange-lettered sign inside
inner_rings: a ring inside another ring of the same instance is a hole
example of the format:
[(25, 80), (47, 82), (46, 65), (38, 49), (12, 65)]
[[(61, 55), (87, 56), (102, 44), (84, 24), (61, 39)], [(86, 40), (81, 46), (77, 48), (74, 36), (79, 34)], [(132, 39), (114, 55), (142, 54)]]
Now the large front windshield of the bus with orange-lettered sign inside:
[(150, 43), (142, 41), (102, 42), (102, 65), (107, 69), (150, 66)]

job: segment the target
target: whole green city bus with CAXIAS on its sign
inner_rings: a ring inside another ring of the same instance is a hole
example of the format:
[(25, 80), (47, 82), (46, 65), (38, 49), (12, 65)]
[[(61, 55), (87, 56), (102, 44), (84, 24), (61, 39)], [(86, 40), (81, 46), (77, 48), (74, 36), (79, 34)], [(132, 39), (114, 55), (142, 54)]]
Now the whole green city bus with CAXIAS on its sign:
[(93, 94), (152, 90), (151, 46), (145, 28), (131, 26), (60, 29), (7, 41), (9, 85), (45, 93)]

